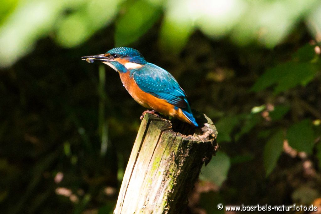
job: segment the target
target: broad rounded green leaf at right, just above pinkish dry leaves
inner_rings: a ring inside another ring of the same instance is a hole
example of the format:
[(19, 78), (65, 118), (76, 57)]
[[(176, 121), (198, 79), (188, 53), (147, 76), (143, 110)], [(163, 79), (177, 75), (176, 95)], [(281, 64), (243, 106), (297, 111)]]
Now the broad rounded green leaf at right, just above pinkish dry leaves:
[(314, 132), (309, 119), (293, 124), (286, 135), (289, 145), (298, 151), (310, 154), (314, 146)]

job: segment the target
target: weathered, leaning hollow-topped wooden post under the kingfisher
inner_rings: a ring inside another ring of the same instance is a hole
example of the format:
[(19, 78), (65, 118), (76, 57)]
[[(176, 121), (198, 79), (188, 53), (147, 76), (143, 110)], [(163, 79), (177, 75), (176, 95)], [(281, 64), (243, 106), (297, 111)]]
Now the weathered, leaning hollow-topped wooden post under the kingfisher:
[(114, 214), (184, 213), (203, 163), (217, 150), (217, 131), (195, 113), (200, 128), (145, 114), (131, 152)]

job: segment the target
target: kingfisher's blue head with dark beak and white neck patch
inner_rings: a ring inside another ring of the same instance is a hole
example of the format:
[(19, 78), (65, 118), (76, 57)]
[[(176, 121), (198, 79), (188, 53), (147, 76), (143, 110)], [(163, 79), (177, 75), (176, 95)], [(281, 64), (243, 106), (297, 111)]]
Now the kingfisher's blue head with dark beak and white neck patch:
[(83, 56), (82, 60), (86, 60), (89, 63), (101, 61), (119, 72), (141, 68), (147, 63), (138, 50), (130, 47), (115, 47), (105, 54)]

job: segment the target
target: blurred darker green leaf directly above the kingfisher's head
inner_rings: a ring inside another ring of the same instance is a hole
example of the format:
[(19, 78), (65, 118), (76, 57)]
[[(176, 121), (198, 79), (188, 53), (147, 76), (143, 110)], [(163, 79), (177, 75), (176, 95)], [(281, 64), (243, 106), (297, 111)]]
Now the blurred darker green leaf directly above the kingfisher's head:
[(145, 34), (160, 17), (160, 10), (146, 1), (136, 1), (116, 20), (115, 45), (126, 46)]

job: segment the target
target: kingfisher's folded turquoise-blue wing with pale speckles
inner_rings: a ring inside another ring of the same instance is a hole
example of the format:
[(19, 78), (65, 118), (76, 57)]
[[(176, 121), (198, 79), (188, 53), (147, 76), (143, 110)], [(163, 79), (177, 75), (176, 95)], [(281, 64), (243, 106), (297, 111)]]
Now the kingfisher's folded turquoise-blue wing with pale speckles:
[(175, 78), (157, 65), (147, 63), (135, 70), (132, 75), (138, 87), (144, 92), (165, 99), (180, 108), (189, 106), (185, 92)]

